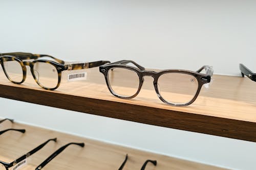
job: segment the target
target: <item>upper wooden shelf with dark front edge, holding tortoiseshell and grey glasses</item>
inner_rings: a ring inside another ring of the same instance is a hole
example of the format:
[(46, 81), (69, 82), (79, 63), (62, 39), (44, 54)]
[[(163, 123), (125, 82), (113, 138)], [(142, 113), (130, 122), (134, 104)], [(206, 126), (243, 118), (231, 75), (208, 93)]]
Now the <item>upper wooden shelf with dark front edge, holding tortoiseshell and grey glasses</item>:
[(186, 107), (162, 103), (146, 77), (132, 100), (113, 96), (98, 68), (87, 69), (87, 81), (62, 83), (55, 91), (40, 88), (28, 75), (15, 85), (0, 74), (0, 96), (149, 125), (256, 142), (256, 83), (241, 77), (214, 76), (209, 89)]

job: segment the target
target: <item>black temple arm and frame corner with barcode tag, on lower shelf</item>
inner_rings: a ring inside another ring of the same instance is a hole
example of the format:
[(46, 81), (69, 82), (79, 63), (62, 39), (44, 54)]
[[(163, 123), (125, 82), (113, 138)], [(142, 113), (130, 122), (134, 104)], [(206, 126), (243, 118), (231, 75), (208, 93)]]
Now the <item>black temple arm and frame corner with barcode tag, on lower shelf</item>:
[(36, 147), (35, 149), (33, 149), (32, 151), (28, 152), (27, 154), (19, 157), (18, 159), (14, 160), (11, 163), (7, 163), (7, 162), (3, 162), (0, 161), (0, 170), (8, 170), (10, 167), (14, 166), (13, 169), (16, 169), (18, 166), (22, 165), (25, 163), (25, 159), (28, 158), (29, 156), (33, 155), (34, 153), (36, 153), (37, 151), (39, 151), (40, 149), (42, 149), (48, 142), (50, 141), (57, 141), (57, 138), (54, 139), (49, 139), (46, 142), (40, 144), (38, 147)]

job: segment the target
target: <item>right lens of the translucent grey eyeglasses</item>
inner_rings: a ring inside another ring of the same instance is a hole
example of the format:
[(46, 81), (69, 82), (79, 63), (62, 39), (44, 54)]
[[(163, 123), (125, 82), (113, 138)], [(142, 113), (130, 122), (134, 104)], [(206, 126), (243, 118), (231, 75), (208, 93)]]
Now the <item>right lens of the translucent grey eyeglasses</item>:
[(198, 81), (191, 75), (167, 73), (158, 79), (158, 91), (169, 103), (186, 104), (194, 98), (197, 89)]

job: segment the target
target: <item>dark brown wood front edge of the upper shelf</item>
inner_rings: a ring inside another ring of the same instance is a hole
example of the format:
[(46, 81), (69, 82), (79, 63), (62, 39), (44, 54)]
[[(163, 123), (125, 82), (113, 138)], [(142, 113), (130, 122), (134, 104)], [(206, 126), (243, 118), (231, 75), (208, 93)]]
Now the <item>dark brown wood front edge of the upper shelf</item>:
[(0, 84), (0, 97), (148, 125), (256, 142), (256, 123)]

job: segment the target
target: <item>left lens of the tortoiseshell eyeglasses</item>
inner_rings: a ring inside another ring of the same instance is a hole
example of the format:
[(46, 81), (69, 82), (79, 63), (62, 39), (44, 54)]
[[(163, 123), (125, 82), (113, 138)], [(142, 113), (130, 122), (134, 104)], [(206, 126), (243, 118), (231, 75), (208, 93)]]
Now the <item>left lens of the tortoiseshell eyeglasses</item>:
[(18, 61), (4, 61), (4, 68), (7, 76), (13, 82), (20, 83), (23, 80), (22, 65)]

